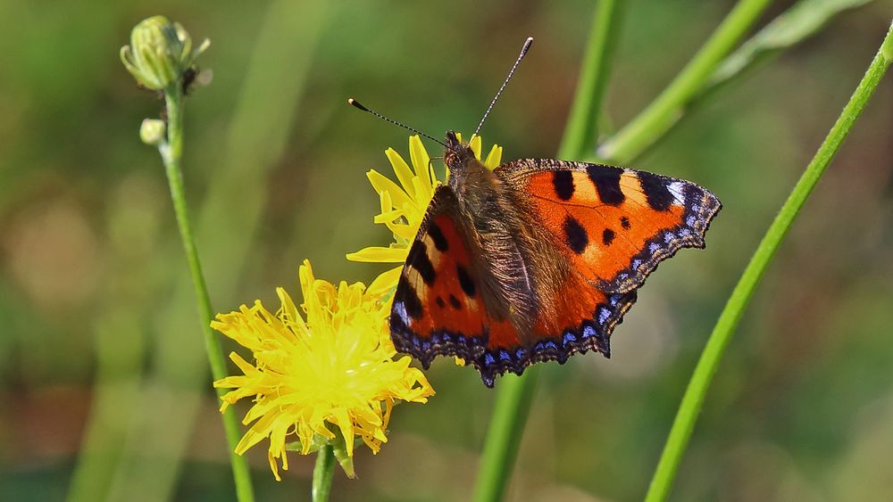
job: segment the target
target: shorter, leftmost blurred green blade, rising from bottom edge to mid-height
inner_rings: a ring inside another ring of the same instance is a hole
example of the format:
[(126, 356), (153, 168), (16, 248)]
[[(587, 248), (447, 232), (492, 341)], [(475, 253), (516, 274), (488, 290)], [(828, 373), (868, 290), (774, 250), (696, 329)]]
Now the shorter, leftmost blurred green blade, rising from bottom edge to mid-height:
[[(161, 180), (157, 180), (161, 181)], [(96, 366), (90, 412), (66, 499), (102, 498), (121, 457), (146, 359), (145, 306), (161, 294), (153, 270), (145, 267), (158, 252), (162, 209), (159, 193), (146, 189), (142, 173), (124, 179), (107, 196), (106, 271), (100, 302), (105, 306), (93, 325)]]

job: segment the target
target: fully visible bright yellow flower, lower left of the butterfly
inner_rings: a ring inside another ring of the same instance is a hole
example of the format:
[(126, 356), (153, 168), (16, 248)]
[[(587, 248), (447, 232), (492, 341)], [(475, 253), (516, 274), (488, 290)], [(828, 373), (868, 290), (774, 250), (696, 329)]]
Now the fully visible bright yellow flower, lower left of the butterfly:
[[(394, 360), (388, 336), (388, 306), (365, 291), (362, 283), (338, 286), (313, 277), (310, 262), (299, 271), (304, 304), (301, 312), (282, 288), (276, 312), (260, 300), (230, 314), (218, 314), (214, 329), (252, 351), (249, 363), (237, 353), (230, 359), (242, 375), (228, 376), (214, 387), (233, 389), (223, 396), (221, 412), (239, 399), (254, 404), (243, 424), (252, 424), (236, 447), (243, 454), (264, 438), (277, 480), (278, 458), (288, 469), (286, 440), (295, 434), (301, 453), (320, 440), (343, 440), (348, 457), (355, 436), (377, 453), (395, 401), (424, 403), (434, 394), (424, 374), (409, 367), (410, 358)], [(336, 432), (342, 436), (338, 438)]]

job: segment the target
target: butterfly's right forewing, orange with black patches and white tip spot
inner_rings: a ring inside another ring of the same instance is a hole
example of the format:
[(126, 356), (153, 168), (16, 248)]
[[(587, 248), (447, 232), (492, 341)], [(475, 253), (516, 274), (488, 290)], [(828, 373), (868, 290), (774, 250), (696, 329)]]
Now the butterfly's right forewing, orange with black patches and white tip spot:
[(530, 201), (565, 256), (605, 292), (630, 292), (683, 247), (704, 247), (722, 205), (689, 181), (564, 160), (514, 160), (497, 169)]

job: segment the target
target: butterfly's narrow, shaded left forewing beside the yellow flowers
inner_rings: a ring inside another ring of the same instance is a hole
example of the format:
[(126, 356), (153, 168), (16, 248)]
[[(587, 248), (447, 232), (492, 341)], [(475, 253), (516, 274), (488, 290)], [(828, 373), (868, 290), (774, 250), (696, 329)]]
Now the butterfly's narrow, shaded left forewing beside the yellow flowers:
[(394, 293), (391, 339), (428, 367), (438, 355), (473, 360), (487, 341), (480, 280), (455, 194), (438, 186)]

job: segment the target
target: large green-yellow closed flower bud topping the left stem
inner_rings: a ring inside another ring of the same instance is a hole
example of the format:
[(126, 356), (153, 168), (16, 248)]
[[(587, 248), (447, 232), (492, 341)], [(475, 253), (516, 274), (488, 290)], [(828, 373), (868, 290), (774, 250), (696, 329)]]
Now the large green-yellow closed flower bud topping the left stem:
[(193, 51), (192, 38), (179, 22), (153, 16), (130, 32), (130, 45), (121, 47), (121, 62), (139, 84), (164, 90), (180, 85), (183, 74), (208, 45), (211, 42), (205, 39)]

